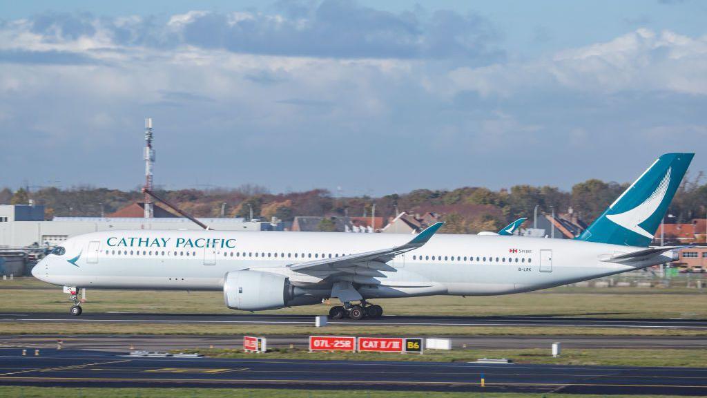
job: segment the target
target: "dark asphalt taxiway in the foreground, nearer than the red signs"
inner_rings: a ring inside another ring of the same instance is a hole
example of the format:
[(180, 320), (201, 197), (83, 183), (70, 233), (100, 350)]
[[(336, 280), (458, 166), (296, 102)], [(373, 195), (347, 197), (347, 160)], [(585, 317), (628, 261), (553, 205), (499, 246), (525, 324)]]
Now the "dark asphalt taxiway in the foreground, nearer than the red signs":
[(133, 358), (71, 350), (33, 354), (0, 349), (0, 385), (707, 394), (707, 368)]

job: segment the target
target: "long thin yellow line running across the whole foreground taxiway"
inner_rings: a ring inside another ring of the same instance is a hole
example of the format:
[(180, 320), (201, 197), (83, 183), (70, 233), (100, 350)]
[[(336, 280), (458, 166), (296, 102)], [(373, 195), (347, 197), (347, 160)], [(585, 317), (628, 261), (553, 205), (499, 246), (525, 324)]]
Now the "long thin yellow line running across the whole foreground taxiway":
[[(425, 382), (414, 380), (281, 380), (281, 379), (149, 379), (139, 377), (36, 377), (36, 376), (0, 376), (0, 380), (35, 380), (35, 381), (83, 381), (83, 382), (200, 382), (205, 384), (216, 384), (219, 382), (228, 383), (276, 383), (276, 384), (355, 384), (355, 385), (481, 385), (480, 382)], [(699, 388), (707, 389), (707, 385), (644, 385), (644, 384), (602, 384), (602, 383), (531, 383), (531, 382), (486, 382), (486, 385), (497, 386), (537, 386), (537, 387), (558, 387), (558, 386), (579, 386), (579, 387), (669, 387), (669, 388)]]

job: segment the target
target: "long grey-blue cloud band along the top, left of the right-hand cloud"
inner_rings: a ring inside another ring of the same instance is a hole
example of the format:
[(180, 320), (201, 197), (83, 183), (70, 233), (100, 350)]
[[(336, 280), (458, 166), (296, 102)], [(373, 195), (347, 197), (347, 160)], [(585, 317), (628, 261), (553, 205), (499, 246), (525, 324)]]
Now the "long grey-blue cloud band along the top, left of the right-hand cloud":
[(455, 58), (484, 64), (502, 59), (500, 35), (477, 14), (455, 11), (392, 13), (355, 1), (277, 4), (273, 13), (188, 11), (169, 16), (96, 18), (42, 13), (16, 23), (16, 38), (35, 45), (85, 47), (182, 46), (240, 54), (336, 58)]

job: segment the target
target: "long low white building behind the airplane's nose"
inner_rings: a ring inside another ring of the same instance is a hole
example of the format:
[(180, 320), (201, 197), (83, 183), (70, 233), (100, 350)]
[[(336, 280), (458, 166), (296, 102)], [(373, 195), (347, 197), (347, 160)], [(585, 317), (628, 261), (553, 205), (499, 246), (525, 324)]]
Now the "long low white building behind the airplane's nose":
[[(33, 207), (29, 209), (28, 207)], [(166, 211), (166, 210), (163, 210)], [(155, 212), (158, 213), (157, 207)], [(40, 216), (41, 215), (41, 216)], [(223, 231), (260, 231), (259, 222), (243, 218), (199, 218)], [(182, 217), (54, 217), (44, 220), (43, 206), (0, 205), (0, 247), (56, 246), (70, 237), (117, 229), (201, 229)]]

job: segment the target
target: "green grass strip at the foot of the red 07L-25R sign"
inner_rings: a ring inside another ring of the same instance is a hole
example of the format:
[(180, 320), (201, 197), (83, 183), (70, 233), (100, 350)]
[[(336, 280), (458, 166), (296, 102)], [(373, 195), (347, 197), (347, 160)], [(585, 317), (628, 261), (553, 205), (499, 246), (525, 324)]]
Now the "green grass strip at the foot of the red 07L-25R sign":
[(400, 353), (347, 353), (314, 352), (304, 348), (276, 348), (268, 353), (245, 353), (240, 349), (187, 349), (175, 352), (201, 353), (212, 358), (248, 359), (307, 359), (307, 360), (402, 360), (433, 362), (473, 362), (479, 358), (508, 358), (515, 363), (543, 363), (551, 365), (606, 365), (606, 366), (678, 366), (689, 368), (707, 367), (707, 350), (648, 350), (648, 349), (563, 349), (562, 355), (554, 358), (550, 349), (514, 350), (455, 350), (425, 351), (424, 355)]

